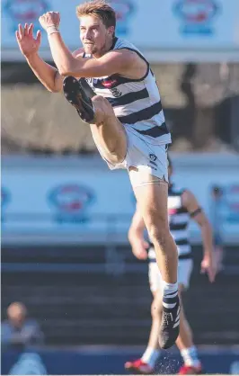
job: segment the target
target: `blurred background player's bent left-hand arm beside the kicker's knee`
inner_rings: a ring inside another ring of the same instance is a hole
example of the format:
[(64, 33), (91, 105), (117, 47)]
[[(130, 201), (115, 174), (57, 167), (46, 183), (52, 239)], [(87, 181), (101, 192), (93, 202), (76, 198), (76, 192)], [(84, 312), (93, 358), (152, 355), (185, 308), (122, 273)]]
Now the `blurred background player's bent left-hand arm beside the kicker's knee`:
[(141, 213), (137, 208), (133, 216), (133, 219), (131, 221), (130, 228), (128, 230), (128, 240), (129, 240), (130, 245), (132, 246), (133, 254), (139, 260), (146, 260), (147, 258), (146, 249), (148, 248), (149, 245), (145, 241), (145, 238), (144, 238), (145, 228), (146, 228), (146, 225), (145, 225), (144, 219), (141, 216)]

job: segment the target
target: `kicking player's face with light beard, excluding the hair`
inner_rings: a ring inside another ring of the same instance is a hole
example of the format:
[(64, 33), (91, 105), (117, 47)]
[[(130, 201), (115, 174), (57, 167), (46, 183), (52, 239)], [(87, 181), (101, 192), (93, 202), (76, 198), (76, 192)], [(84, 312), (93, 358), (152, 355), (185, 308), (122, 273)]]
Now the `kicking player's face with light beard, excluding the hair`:
[(92, 15), (81, 17), (80, 37), (86, 54), (101, 54), (105, 49), (109, 29), (105, 27), (102, 20)]

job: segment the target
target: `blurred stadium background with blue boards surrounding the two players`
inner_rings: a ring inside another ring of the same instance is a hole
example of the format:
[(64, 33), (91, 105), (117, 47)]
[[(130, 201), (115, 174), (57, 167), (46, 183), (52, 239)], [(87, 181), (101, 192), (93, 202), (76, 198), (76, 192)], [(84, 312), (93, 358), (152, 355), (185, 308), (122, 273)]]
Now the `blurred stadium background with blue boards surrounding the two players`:
[[(62, 94), (40, 85), (14, 38), (19, 22), (38, 29), (40, 14), (54, 10), (77, 49), (79, 3), (2, 1), (2, 325), (13, 317), (29, 333), (11, 345), (2, 327), (2, 374), (123, 374), (151, 324), (147, 263), (128, 245), (128, 175), (110, 173), (87, 125)], [(155, 72), (174, 181), (195, 193), (222, 238), (222, 268), (209, 284), (199, 273), (199, 228), (190, 226), (185, 307), (195, 343), (208, 373), (239, 374), (239, 2), (111, 4), (117, 35)], [(45, 36), (40, 56), (53, 64)], [(176, 349), (166, 352), (159, 372), (177, 372), (180, 362)]]

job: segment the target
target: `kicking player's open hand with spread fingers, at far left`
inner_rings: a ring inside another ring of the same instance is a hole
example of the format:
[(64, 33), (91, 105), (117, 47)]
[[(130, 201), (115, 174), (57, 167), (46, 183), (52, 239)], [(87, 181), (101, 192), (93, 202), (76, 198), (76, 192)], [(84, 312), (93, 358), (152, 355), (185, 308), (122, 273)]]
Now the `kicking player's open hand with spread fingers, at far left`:
[(41, 33), (40, 30), (37, 32), (36, 38), (33, 36), (33, 23), (30, 25), (25, 23), (22, 27), (21, 24), (18, 25), (18, 31), (15, 32), (16, 40), (18, 42), (19, 48), (22, 54), (29, 58), (38, 52), (40, 48)]

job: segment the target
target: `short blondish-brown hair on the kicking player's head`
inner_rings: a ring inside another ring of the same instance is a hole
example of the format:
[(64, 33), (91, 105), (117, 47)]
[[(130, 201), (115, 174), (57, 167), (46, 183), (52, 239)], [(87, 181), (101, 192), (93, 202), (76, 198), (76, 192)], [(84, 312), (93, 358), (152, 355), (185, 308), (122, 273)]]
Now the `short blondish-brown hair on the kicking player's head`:
[(116, 14), (110, 4), (105, 0), (92, 0), (76, 7), (76, 15), (78, 18), (84, 15), (93, 15), (102, 20), (106, 28), (116, 26)]

